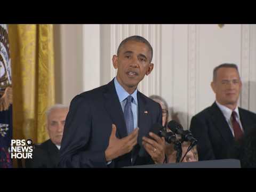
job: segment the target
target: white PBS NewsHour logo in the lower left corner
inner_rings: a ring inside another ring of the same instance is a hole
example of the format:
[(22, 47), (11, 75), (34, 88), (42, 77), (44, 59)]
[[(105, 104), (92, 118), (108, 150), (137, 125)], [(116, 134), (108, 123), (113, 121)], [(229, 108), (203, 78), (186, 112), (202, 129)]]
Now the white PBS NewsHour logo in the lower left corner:
[(33, 142), (31, 139), (12, 139), (11, 158), (32, 158)]

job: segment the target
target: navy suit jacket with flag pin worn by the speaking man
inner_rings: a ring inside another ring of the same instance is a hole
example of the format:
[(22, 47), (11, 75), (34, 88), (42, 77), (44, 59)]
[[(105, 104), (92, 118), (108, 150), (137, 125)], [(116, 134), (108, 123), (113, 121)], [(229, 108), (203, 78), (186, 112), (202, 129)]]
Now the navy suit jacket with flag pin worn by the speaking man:
[[(127, 136), (123, 110), (114, 79), (107, 85), (77, 95), (70, 103), (60, 149), (60, 167), (122, 167), (153, 164), (147, 154), (140, 157), (142, 137), (155, 123), (162, 124), (161, 106), (138, 91), (138, 144), (131, 153), (113, 159), (107, 166), (105, 150), (108, 147), (112, 124), (116, 137)], [(145, 113), (145, 111), (147, 111)], [(131, 157), (133, 162), (131, 162)]]

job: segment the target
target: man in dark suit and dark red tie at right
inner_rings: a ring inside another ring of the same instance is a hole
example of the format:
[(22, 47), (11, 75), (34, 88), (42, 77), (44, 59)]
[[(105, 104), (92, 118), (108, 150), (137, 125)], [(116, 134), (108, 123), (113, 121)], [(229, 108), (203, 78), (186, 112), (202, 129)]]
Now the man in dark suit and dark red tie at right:
[(216, 67), (211, 87), (215, 102), (195, 115), (190, 124), (198, 139), (199, 160), (228, 158), (244, 132), (256, 124), (256, 114), (237, 105), (242, 82), (235, 64)]

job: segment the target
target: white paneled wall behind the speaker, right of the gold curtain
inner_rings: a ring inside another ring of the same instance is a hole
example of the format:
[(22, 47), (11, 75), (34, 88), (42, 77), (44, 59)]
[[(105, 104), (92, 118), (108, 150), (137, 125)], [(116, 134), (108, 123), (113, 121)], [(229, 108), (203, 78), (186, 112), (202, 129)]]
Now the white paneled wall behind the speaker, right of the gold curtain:
[(153, 72), (139, 90), (159, 94), (187, 128), (210, 106), (214, 67), (236, 63), (243, 81), (239, 105), (256, 112), (256, 25), (61, 25), (63, 103), (111, 81), (111, 58), (119, 43), (142, 35), (153, 46)]

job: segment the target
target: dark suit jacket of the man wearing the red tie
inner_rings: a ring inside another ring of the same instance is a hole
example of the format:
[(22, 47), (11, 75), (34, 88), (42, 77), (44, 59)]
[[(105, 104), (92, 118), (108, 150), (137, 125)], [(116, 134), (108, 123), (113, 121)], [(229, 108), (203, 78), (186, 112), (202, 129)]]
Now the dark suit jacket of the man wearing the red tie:
[[(239, 107), (238, 110), (246, 133), (256, 124), (256, 114)], [(198, 139), (199, 161), (229, 158), (238, 144), (225, 116), (215, 102), (191, 119), (190, 131)]]

